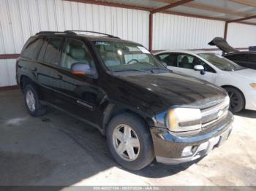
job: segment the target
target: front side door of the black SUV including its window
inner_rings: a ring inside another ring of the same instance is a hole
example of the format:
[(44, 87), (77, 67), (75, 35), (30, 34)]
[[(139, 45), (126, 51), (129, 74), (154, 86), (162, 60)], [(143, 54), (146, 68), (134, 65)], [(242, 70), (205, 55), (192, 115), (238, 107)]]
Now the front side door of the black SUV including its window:
[(97, 72), (86, 42), (67, 38), (62, 48), (61, 61), (56, 69), (56, 80), (53, 81), (55, 104), (94, 125), (94, 122), (100, 122), (98, 106), (104, 93), (97, 86), (97, 78), (72, 74), (71, 67), (74, 63), (88, 63), (91, 71)]

